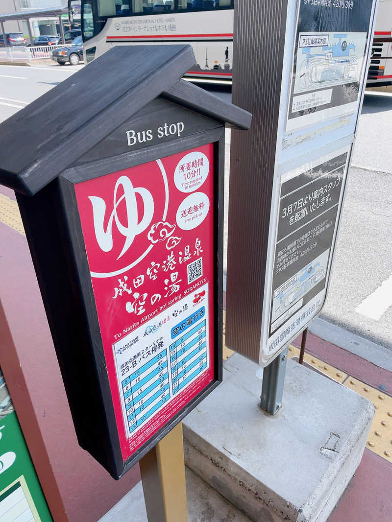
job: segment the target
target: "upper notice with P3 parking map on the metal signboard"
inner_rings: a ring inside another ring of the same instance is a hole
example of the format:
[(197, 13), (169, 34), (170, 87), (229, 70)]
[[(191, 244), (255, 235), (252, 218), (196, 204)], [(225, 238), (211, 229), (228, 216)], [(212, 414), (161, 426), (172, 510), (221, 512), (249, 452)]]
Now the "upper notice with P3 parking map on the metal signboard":
[(286, 131), (354, 112), (365, 66), (371, 0), (301, 0)]

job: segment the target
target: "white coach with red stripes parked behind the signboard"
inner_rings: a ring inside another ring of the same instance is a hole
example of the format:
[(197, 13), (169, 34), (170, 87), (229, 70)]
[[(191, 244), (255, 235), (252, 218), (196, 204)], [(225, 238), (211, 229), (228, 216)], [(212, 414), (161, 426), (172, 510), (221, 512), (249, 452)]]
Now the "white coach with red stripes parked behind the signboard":
[[(68, 0), (80, 13), (85, 62), (113, 45), (189, 43), (187, 77), (231, 82), (234, 0)], [(379, 0), (367, 87), (392, 85), (392, 0)]]

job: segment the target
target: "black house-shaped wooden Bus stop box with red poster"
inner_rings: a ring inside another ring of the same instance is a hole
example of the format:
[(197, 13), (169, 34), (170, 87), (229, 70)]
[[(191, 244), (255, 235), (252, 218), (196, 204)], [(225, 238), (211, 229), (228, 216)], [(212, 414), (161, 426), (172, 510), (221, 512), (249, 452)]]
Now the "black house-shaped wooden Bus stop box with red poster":
[(0, 126), (78, 441), (116, 479), (222, 380), (224, 128), (251, 115), (193, 64), (117, 46)]

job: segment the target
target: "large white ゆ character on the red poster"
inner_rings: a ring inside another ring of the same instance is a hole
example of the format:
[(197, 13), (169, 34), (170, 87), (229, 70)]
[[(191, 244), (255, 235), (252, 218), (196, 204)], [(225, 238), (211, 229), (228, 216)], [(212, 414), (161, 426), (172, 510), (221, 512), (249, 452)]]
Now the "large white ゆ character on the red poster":
[[(122, 186), (124, 193), (117, 199), (117, 192), (120, 186)], [(140, 194), (142, 197), (144, 206), (143, 217), (140, 222), (139, 216), (137, 214), (136, 193)], [(106, 214), (105, 200), (98, 196), (88, 196), (88, 198), (93, 205), (94, 230), (100, 249), (103, 252), (110, 252), (113, 248), (113, 219), (116, 223), (118, 231), (124, 236), (124, 245), (120, 255), (117, 258), (120, 259), (120, 257), (124, 255), (128, 248), (132, 245), (135, 236), (144, 232), (153, 219), (154, 200), (151, 193), (144, 187), (134, 188), (129, 177), (119, 177), (116, 186), (114, 186), (113, 210), (110, 214), (106, 230), (103, 224)], [(120, 205), (123, 199), (125, 200), (124, 203), (126, 207), (126, 225), (121, 223), (117, 215), (117, 207)]]

